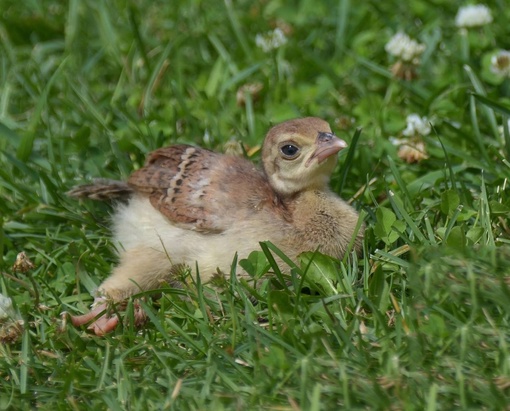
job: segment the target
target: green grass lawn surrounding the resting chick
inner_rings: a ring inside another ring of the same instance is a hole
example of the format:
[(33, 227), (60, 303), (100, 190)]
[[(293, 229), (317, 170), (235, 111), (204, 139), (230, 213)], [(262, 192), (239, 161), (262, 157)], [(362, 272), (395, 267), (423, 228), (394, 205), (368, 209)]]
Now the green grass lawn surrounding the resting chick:
[[(0, 345), (0, 408), (508, 409), (510, 78), (489, 66), (510, 10), (486, 4), (493, 23), (464, 35), (460, 1), (2, 0), (0, 292), (25, 328)], [(277, 24), (287, 43), (266, 53)], [(410, 81), (384, 50), (399, 30), (427, 47)], [(434, 127), (407, 164), (389, 138), (411, 113)], [(66, 326), (115, 264), (111, 207), (68, 189), (177, 142), (251, 153), (305, 115), (351, 143), (332, 187), (365, 216), (363, 258), (267, 279), (262, 244), (241, 263), (256, 281), (183, 273), (142, 298), (141, 330)], [(21, 251), (34, 269), (13, 270)]]

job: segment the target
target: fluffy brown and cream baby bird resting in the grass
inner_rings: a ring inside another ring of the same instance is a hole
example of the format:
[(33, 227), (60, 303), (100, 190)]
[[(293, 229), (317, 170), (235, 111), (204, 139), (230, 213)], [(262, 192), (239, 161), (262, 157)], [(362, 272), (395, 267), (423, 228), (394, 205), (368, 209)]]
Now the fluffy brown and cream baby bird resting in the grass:
[(129, 197), (113, 217), (119, 264), (99, 286), (92, 310), (72, 317), (73, 324), (95, 320), (90, 329), (109, 332), (117, 316), (96, 318), (108, 301), (171, 283), (172, 268), (183, 264), (198, 263), (206, 282), (218, 269), (228, 273), (235, 253), (245, 258), (260, 241), (290, 258), (317, 248), (342, 258), (356, 236), (359, 252), (358, 214), (328, 188), (336, 154), (346, 146), (327, 122), (301, 118), (268, 132), (262, 170), (238, 156), (175, 145), (152, 152), (127, 184), (99, 180), (73, 189), (75, 197)]

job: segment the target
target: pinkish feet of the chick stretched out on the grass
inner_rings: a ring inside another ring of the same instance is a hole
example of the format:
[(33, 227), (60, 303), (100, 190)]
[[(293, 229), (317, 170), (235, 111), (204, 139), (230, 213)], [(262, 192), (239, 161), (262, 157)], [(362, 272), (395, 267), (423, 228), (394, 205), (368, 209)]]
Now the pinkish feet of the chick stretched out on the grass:
[[(119, 316), (116, 313), (112, 314), (111, 302), (107, 301), (104, 297), (98, 297), (94, 300), (91, 310), (83, 315), (71, 316), (71, 322), (75, 327), (80, 327), (92, 321), (87, 327), (97, 336), (103, 336), (115, 330), (119, 324)], [(121, 307), (122, 308), (122, 307)], [(134, 323), (135, 326), (142, 325), (147, 320), (147, 315), (143, 311), (140, 304), (134, 302)]]

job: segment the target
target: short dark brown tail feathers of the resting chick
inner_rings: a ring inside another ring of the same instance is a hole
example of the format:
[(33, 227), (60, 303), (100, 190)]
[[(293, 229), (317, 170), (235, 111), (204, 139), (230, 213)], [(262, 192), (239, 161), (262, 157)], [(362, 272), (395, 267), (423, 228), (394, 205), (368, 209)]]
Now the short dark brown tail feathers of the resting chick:
[(73, 187), (67, 195), (74, 198), (88, 198), (91, 200), (128, 200), (133, 189), (124, 181), (98, 178), (91, 184)]

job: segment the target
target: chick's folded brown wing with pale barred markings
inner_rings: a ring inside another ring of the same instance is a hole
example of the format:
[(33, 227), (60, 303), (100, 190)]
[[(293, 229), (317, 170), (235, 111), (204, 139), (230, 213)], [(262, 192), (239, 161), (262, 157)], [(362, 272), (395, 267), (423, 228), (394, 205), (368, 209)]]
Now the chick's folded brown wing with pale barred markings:
[(263, 211), (290, 219), (253, 163), (198, 147), (176, 145), (154, 151), (128, 184), (148, 196), (172, 223), (190, 230), (222, 232), (246, 213)]

